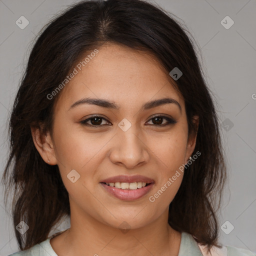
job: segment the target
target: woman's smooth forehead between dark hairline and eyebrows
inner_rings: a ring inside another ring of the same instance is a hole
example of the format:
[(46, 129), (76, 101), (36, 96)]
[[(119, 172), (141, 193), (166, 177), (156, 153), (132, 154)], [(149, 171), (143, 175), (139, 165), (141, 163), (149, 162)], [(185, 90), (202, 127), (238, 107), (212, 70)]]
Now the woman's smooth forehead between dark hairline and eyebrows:
[(61, 90), (58, 104), (70, 106), (75, 100), (91, 96), (130, 107), (171, 96), (182, 106), (182, 96), (173, 87), (172, 78), (152, 55), (112, 43), (97, 50), (95, 54), (87, 52), (77, 62), (76, 74)]

